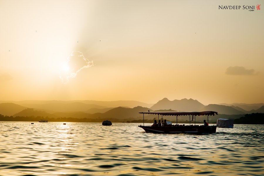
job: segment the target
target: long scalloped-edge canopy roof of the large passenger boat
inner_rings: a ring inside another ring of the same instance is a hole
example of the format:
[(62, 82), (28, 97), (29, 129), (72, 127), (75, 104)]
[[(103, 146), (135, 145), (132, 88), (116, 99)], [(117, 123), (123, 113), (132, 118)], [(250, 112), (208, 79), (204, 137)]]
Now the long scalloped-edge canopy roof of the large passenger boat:
[(218, 115), (215, 111), (196, 111), (196, 112), (140, 112), (141, 114), (158, 114), (158, 115)]

